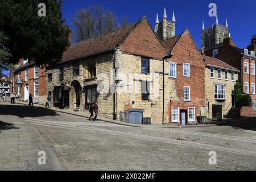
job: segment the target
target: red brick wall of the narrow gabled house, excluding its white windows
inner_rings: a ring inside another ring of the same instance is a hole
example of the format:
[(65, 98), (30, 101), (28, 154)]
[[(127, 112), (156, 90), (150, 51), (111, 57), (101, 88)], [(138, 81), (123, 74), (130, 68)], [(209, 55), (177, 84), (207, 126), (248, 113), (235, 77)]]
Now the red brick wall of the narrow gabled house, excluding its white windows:
[[(195, 107), (195, 116), (197, 116), (200, 114), (197, 113), (197, 109), (205, 106), (205, 64), (188, 31), (184, 32), (171, 53), (173, 55), (171, 61), (177, 63), (177, 78), (169, 79), (175, 80), (177, 96), (180, 100), (171, 101), (169, 111), (171, 113), (172, 106), (185, 110), (188, 110), (188, 107)], [(190, 77), (183, 76), (183, 63), (190, 64)], [(190, 102), (184, 101), (184, 86), (190, 86)]]

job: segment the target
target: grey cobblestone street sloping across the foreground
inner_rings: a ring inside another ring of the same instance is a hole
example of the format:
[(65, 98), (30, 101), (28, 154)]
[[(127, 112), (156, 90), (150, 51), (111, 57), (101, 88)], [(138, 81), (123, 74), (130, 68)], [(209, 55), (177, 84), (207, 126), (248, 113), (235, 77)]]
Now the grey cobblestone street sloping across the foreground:
[[(0, 120), (12, 126), (8, 130), (0, 129), (0, 169), (256, 169), (255, 124), (252, 130), (239, 128), (237, 123), (235, 126), (140, 128), (92, 122), (21, 105), (1, 103), (0, 107)], [(15, 115), (8, 114), (11, 107), (16, 107)], [(255, 118), (250, 122), (255, 122)], [(20, 134), (25, 139), (16, 141)], [(49, 164), (39, 166), (37, 152), (45, 149)], [(209, 165), (210, 151), (217, 152), (216, 166)]]

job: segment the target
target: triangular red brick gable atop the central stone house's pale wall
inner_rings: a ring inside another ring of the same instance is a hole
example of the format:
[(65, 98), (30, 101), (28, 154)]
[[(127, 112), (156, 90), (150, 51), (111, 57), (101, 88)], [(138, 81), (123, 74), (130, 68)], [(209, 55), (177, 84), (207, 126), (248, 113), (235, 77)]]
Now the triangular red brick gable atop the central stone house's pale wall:
[(146, 18), (141, 20), (119, 48), (123, 53), (153, 57), (156, 60), (162, 60), (167, 55)]

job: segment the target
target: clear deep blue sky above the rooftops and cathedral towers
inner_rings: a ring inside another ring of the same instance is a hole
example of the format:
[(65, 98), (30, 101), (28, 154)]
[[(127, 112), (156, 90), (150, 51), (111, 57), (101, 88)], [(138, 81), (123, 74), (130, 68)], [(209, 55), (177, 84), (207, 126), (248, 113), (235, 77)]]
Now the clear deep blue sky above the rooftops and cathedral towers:
[[(188, 28), (196, 41), (197, 47), (201, 47), (201, 27), (204, 19), (205, 28), (215, 23), (215, 17), (208, 15), (209, 3), (216, 3), (218, 21), (225, 25), (228, 19), (229, 31), (238, 47), (247, 47), (251, 37), (256, 34), (255, 0), (63, 0), (63, 18), (72, 27), (72, 15), (82, 6), (103, 5), (106, 9), (112, 10), (118, 18), (128, 17), (129, 23), (135, 22), (146, 15), (151, 26), (154, 28), (156, 13), (159, 20), (163, 17), (164, 7), (167, 10), (167, 18), (172, 18), (172, 11), (175, 11), (176, 35)], [(6, 72), (7, 74), (7, 72)]]

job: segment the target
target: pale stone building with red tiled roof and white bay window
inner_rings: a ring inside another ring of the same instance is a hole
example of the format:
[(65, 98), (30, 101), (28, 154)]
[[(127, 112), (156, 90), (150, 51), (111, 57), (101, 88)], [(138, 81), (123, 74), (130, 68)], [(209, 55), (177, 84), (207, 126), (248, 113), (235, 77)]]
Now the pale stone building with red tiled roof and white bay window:
[(216, 119), (217, 113), (222, 118), (229, 117), (231, 109), (236, 107), (234, 85), (238, 80), (238, 70), (215, 57), (202, 55), (205, 61), (205, 98), (207, 117)]

